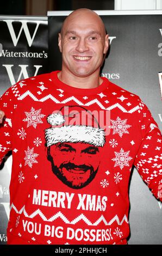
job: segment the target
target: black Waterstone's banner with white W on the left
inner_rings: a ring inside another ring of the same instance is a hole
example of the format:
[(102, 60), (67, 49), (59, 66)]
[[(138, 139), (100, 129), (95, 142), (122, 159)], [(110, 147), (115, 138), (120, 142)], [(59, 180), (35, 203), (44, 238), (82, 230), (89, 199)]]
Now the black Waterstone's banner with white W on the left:
[[(23, 79), (47, 72), (47, 17), (0, 17), (0, 93)], [(16, 106), (15, 106), (16, 108)], [(0, 245), (7, 242), (12, 156), (0, 166)]]

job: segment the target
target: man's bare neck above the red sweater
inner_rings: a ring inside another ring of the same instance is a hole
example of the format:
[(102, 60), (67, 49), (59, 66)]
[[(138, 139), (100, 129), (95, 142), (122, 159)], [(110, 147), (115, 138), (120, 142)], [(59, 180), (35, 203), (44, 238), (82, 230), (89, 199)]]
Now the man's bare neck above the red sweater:
[(98, 73), (86, 77), (79, 77), (73, 75), (71, 72), (62, 70), (58, 73), (58, 78), (61, 82), (66, 83), (69, 86), (82, 89), (96, 88), (103, 82)]

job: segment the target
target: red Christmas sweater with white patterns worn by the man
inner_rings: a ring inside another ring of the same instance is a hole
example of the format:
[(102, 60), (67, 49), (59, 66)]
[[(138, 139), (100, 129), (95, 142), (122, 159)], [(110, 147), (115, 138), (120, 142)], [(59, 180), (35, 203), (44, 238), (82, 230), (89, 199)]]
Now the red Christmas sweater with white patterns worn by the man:
[(107, 78), (79, 89), (57, 73), (1, 97), (1, 161), (13, 152), (8, 244), (126, 244), (134, 165), (161, 200), (161, 133), (139, 96)]

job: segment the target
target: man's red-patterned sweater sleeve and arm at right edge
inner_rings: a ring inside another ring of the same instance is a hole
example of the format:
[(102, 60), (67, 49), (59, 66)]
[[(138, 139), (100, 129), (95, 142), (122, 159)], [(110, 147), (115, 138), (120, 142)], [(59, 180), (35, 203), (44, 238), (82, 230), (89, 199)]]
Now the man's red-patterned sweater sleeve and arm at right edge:
[(162, 201), (161, 132), (146, 105), (139, 116), (142, 142), (138, 154), (136, 154), (134, 166), (138, 169), (155, 198)]

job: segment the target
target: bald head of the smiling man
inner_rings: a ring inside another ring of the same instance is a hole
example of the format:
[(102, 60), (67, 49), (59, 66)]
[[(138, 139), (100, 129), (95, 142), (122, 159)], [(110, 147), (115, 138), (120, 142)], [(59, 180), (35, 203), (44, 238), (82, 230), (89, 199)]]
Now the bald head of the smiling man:
[(99, 75), (108, 51), (108, 34), (95, 11), (78, 9), (68, 15), (59, 33), (62, 71), (78, 77)]

